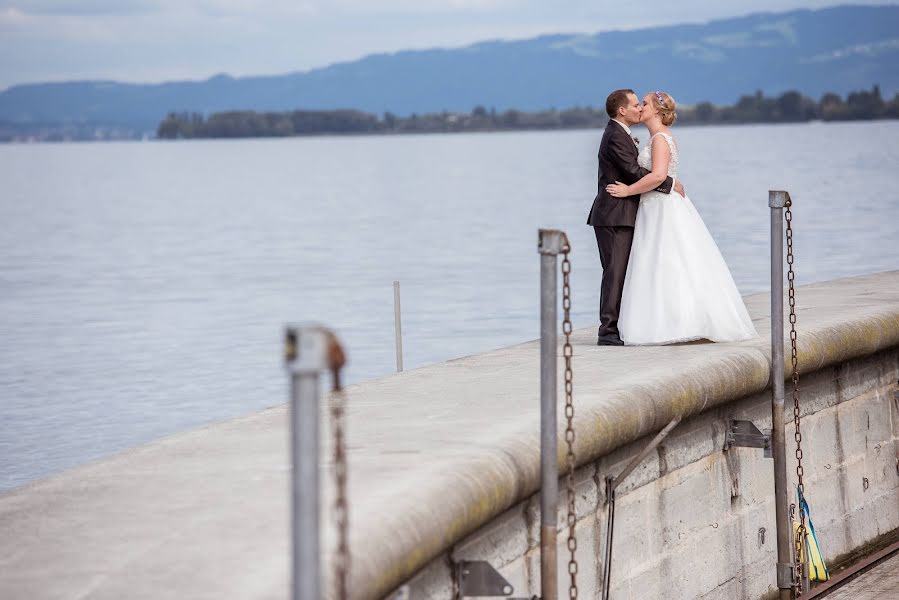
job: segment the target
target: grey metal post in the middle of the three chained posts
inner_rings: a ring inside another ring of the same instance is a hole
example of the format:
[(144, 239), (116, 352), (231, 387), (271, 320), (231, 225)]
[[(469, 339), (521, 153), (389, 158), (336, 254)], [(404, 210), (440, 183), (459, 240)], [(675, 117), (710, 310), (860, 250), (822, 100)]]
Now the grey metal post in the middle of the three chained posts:
[(565, 234), (541, 229), (540, 253), (540, 590), (541, 600), (558, 597), (556, 523), (559, 512), (559, 456), (556, 437), (558, 368), (558, 255)]

